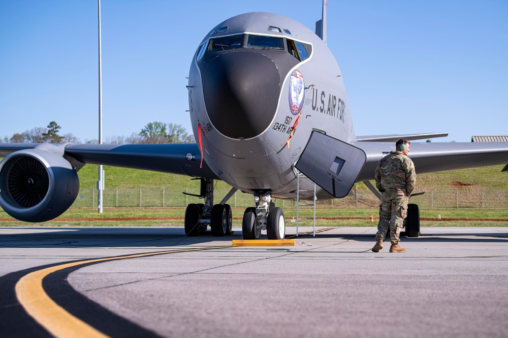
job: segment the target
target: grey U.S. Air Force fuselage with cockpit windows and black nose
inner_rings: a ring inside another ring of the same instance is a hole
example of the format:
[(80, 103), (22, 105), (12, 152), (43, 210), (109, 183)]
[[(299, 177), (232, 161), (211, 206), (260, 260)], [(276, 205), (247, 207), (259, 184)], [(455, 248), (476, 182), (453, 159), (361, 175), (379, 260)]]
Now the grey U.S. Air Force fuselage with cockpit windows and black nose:
[[(284, 16), (247, 13), (215, 26), (194, 55), (188, 87), (204, 160), (243, 192), (294, 198), (294, 164), (313, 130), (356, 140), (335, 58), (313, 31)], [(313, 186), (300, 179), (301, 190)], [(318, 198), (330, 196), (317, 189)]]

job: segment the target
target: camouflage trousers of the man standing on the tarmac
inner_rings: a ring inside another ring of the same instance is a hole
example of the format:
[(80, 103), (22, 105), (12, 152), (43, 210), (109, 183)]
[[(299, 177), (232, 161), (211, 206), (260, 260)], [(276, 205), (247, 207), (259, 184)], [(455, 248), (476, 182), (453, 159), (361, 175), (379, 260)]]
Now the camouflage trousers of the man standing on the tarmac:
[(385, 241), (390, 231), (390, 242), (399, 243), (400, 229), (407, 217), (407, 201), (405, 190), (390, 190), (382, 193), (379, 206), (379, 223), (377, 224), (376, 241)]

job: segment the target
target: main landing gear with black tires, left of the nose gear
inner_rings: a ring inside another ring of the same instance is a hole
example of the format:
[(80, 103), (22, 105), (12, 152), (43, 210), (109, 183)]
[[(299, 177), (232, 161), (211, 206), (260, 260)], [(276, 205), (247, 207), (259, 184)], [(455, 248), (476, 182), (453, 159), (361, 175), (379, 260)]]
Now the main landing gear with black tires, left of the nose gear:
[(231, 234), (233, 226), (231, 206), (229, 204), (213, 205), (213, 179), (201, 178), (200, 195), (186, 195), (204, 198), (205, 203), (187, 205), (184, 219), (185, 235), (204, 235), (208, 224), (213, 236)]

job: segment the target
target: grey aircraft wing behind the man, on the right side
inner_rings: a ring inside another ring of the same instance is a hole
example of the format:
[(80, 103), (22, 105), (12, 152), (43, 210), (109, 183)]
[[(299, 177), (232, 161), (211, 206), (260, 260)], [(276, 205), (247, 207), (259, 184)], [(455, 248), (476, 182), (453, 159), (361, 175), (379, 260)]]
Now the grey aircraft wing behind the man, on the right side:
[[(352, 144), (367, 156), (357, 182), (374, 179), (379, 160), (395, 151), (393, 142)], [(409, 158), (417, 174), (508, 164), (508, 142), (411, 142)]]

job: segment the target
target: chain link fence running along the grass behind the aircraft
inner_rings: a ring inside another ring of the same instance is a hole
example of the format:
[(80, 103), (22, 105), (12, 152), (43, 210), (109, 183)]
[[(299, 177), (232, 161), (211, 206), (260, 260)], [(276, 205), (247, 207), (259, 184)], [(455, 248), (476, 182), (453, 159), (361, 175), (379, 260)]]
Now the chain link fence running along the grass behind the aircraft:
[[(186, 189), (188, 194), (199, 194), (199, 189)], [(229, 189), (215, 189), (214, 202), (219, 203)], [(81, 189), (74, 202), (75, 207), (96, 207), (98, 191), (93, 188)], [(181, 191), (161, 188), (106, 189), (103, 191), (104, 207), (185, 207), (189, 203), (203, 203), (202, 199), (182, 194)], [(252, 195), (236, 192), (228, 203), (234, 208), (254, 205)], [(508, 209), (508, 191), (505, 190), (433, 190), (410, 198), (420, 208), (504, 208)], [(275, 199), (280, 207), (294, 206), (294, 201)], [(353, 189), (341, 199), (317, 201), (322, 208), (377, 208), (379, 200), (370, 191)]]

